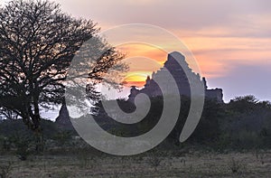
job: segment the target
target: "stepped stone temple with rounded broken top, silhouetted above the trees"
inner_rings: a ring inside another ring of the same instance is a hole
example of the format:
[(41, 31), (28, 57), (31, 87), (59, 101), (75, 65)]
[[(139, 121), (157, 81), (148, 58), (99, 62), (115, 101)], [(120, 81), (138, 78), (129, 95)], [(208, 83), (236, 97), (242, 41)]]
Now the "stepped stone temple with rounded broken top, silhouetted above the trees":
[[(181, 63), (181, 65), (180, 65)], [(173, 76), (173, 80), (169, 80), (168, 71)], [(189, 74), (190, 82), (186, 74)], [(136, 89), (135, 86), (131, 87), (130, 95), (128, 100), (134, 102), (135, 96), (139, 93), (145, 93), (149, 97), (163, 96), (162, 90), (155, 80), (159, 79), (164, 82), (164, 86), (168, 86), (165, 93), (168, 95), (176, 95), (171, 86), (173, 82), (176, 83), (179, 94), (182, 96), (191, 97), (191, 87), (192, 85), (197, 85), (199, 82), (203, 82), (205, 89), (205, 98), (214, 99), (219, 103), (223, 102), (223, 92), (222, 89), (208, 89), (207, 81), (203, 77), (201, 79), (199, 74), (196, 74), (189, 68), (188, 63), (185, 61), (184, 56), (180, 52), (171, 52), (168, 54), (167, 61), (164, 62), (164, 67), (156, 72), (153, 72), (152, 77), (148, 76), (145, 80), (145, 86), (143, 89)], [(201, 83), (202, 84), (202, 83)]]

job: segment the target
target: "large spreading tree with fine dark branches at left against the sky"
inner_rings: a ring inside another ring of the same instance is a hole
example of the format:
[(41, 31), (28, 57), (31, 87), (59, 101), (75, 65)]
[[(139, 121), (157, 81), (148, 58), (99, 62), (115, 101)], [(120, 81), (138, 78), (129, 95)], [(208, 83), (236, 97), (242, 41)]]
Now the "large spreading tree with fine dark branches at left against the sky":
[[(1, 8), (0, 107), (13, 111), (39, 132), (40, 108), (63, 102), (62, 81), (70, 61), (96, 33), (96, 23), (64, 14), (60, 5), (49, 1), (15, 0)], [(103, 55), (89, 69), (89, 78), (96, 80), (93, 83), (123, 59), (107, 42), (97, 42), (92, 48)], [(97, 94), (94, 89), (90, 85), (88, 91)]]

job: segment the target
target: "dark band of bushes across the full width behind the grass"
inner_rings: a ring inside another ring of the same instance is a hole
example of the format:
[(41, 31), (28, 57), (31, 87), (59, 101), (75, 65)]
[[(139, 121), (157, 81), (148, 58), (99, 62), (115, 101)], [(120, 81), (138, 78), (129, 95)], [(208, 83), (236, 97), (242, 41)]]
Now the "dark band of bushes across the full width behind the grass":
[[(149, 114), (135, 126), (126, 126), (107, 117), (104, 110), (99, 110), (96, 120), (107, 132), (117, 136), (137, 136), (151, 129), (159, 120), (163, 107), (163, 98), (152, 98), (153, 104)], [(135, 109), (132, 103), (118, 100), (119, 106), (127, 112)], [(261, 150), (271, 148), (271, 104), (268, 101), (258, 101), (253, 96), (238, 97), (229, 103), (217, 103), (207, 99), (201, 116), (201, 121), (192, 136), (185, 142), (179, 142), (182, 126), (189, 111), (190, 101), (182, 98), (180, 117), (172, 133), (157, 149), (182, 150), (194, 148), (197, 150), (212, 150), (216, 152)], [(42, 148), (44, 153), (65, 154), (70, 150), (97, 150), (87, 145), (79, 138), (76, 131), (60, 128), (54, 122), (42, 120)], [(2, 153), (14, 153), (20, 159), (26, 159), (35, 152), (35, 137), (23, 126), (22, 119), (5, 119), (0, 123), (0, 146)], [(101, 154), (101, 153), (100, 153)]]

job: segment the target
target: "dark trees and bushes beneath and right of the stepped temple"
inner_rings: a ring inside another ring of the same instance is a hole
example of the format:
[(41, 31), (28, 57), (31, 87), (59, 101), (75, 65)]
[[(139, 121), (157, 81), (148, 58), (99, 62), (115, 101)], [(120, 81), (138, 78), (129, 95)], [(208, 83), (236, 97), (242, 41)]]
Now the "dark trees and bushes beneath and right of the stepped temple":
[[(147, 116), (133, 126), (117, 123), (102, 108), (96, 121), (101, 127), (117, 136), (141, 135), (158, 122), (163, 110), (163, 98), (151, 98), (152, 105)], [(108, 101), (110, 102), (110, 101)], [(133, 112), (135, 105), (124, 99), (118, 100), (124, 111)], [(190, 109), (190, 98), (182, 97), (180, 116), (171, 134), (162, 145), (204, 145), (216, 150), (257, 149), (271, 147), (271, 103), (259, 101), (254, 96), (231, 99), (218, 103), (206, 98), (199, 125), (183, 144), (179, 142), (182, 127)]]

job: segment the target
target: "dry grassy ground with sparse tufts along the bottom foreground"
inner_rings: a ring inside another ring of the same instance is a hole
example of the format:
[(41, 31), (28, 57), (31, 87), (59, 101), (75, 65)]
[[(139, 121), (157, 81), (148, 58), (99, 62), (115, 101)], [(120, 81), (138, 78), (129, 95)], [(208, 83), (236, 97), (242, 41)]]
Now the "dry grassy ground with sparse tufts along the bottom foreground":
[[(269, 177), (271, 151), (109, 156), (73, 153), (0, 156), (6, 177)], [(1, 176), (0, 176), (1, 177)]]

